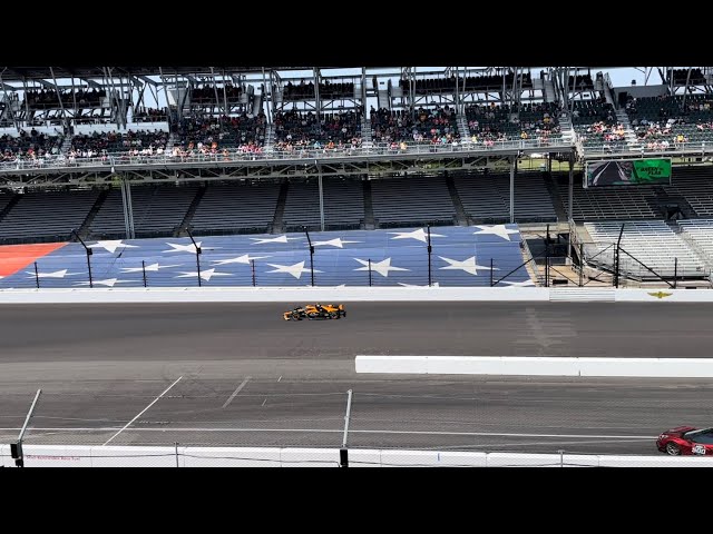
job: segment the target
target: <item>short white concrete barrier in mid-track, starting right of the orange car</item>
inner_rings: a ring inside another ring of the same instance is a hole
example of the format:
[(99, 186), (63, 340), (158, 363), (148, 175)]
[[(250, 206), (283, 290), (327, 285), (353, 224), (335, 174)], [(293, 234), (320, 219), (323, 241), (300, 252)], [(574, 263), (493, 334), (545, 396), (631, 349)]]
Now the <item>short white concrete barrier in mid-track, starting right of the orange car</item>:
[(713, 358), (359, 355), (354, 358), (354, 367), (356, 373), (404, 375), (713, 378)]

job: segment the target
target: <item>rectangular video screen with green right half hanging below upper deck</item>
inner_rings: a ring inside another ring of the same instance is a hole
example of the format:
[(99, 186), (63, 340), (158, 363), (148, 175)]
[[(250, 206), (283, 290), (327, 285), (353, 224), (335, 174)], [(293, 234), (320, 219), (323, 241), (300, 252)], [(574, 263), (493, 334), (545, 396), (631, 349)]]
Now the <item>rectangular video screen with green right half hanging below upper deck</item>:
[(671, 184), (671, 158), (589, 161), (585, 187)]

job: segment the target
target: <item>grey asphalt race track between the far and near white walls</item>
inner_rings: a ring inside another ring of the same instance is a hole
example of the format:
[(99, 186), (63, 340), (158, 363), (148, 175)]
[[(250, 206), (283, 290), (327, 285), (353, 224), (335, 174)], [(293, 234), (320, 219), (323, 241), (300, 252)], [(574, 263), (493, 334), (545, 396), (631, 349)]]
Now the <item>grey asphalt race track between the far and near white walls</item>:
[[(358, 375), (354, 356), (711, 357), (711, 305), (304, 303), (0, 306), (0, 443), (658, 454), (711, 426), (706, 379)], [(123, 429), (126, 427), (125, 429)]]

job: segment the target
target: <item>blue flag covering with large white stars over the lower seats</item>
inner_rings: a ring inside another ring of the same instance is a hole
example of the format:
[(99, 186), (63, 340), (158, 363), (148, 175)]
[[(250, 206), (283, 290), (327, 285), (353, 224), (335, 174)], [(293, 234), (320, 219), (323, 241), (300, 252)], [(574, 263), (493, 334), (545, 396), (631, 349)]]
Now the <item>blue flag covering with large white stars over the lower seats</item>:
[[(428, 285), (427, 228), (311, 233), (315, 286)], [(304, 234), (199, 237), (202, 285), (310, 286)], [(431, 228), (432, 284), (450, 287), (535, 285), (522, 265), (517, 225)], [(188, 238), (87, 241), (95, 287), (198, 285), (195, 247)], [(143, 263), (143, 264), (141, 264)], [(254, 269), (253, 269), (254, 267)], [(519, 268), (518, 268), (519, 267)], [(510, 273), (514, 271), (514, 273)], [(41, 288), (88, 287), (87, 256), (70, 243), (37, 260)], [(36, 287), (35, 265), (0, 279), (0, 288)]]

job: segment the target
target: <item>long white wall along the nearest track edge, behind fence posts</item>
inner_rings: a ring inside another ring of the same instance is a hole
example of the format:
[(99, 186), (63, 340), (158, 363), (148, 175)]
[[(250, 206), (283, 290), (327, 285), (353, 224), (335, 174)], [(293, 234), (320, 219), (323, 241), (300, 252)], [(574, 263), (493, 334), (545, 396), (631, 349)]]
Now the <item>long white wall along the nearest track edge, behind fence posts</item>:
[[(26, 467), (176, 467), (175, 447), (25, 445)], [(111, 456), (111, 457), (109, 457)], [(14, 466), (0, 444), (0, 465)], [(381, 466), (603, 466), (713, 467), (713, 456), (672, 457), (585, 454), (481, 453), (463, 451), (350, 449), (350, 467)], [(339, 466), (339, 448), (178, 447), (179, 467)]]

